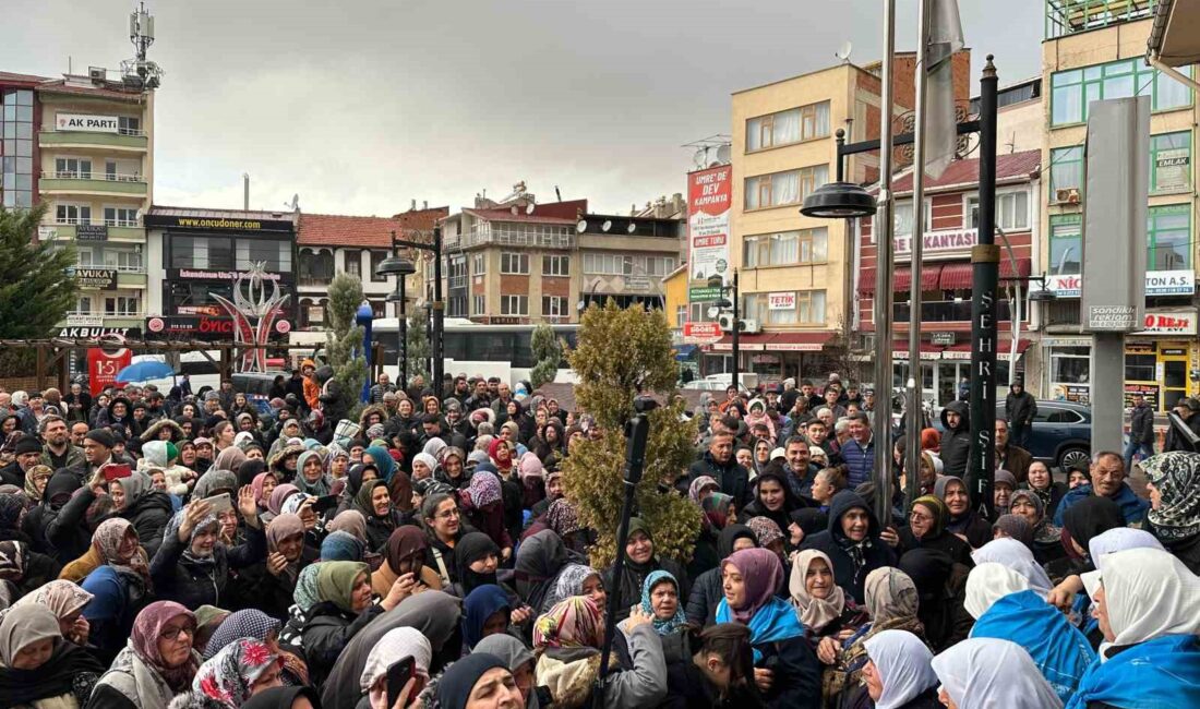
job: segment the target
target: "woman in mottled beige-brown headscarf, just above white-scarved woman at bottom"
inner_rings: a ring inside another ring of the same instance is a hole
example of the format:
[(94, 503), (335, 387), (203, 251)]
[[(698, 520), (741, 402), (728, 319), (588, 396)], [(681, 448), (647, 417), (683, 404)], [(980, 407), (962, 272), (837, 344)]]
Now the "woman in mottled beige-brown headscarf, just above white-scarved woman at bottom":
[[(822, 677), (822, 693), (827, 701), (844, 701), (853, 696), (859, 685), (863, 665), (866, 663), (866, 641), (884, 630), (907, 630), (925, 638), (924, 627), (917, 618), (917, 585), (899, 569), (884, 566), (866, 576), (866, 614), (870, 623), (842, 643), (834, 663)], [(840, 704), (839, 704), (840, 705)]]

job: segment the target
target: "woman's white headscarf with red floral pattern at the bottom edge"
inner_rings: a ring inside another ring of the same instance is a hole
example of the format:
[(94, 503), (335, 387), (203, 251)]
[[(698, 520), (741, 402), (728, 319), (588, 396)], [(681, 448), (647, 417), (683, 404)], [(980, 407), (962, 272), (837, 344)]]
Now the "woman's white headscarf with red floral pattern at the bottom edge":
[(192, 679), (192, 693), (215, 699), (227, 709), (240, 709), (254, 695), (281, 686), (281, 672), (282, 662), (266, 643), (239, 638), (200, 665)]

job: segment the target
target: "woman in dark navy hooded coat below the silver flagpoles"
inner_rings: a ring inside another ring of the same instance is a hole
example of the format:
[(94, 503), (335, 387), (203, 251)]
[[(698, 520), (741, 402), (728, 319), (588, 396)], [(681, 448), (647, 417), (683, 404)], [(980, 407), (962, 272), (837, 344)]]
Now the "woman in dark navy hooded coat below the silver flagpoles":
[(892, 547), (880, 539), (880, 522), (866, 501), (848, 489), (829, 504), (829, 528), (804, 540), (802, 549), (817, 549), (833, 561), (834, 583), (856, 603), (863, 605), (866, 575), (883, 566), (895, 566)]

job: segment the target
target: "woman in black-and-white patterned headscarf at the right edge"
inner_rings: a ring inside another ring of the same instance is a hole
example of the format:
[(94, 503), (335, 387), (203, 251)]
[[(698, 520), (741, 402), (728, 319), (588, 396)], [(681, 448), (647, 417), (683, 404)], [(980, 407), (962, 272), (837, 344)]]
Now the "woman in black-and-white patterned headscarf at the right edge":
[(1200, 453), (1159, 453), (1142, 461), (1141, 469), (1150, 477), (1146, 518), (1151, 531), (1193, 573), (1200, 573)]

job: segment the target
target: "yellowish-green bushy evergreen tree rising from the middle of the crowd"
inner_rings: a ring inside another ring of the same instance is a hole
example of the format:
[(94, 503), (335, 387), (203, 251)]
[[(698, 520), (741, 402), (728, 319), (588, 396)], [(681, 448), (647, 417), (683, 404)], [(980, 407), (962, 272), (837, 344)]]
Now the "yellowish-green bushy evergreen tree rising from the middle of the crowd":
[(637, 513), (654, 533), (655, 553), (686, 561), (700, 533), (700, 511), (674, 492), (659, 492), (659, 482), (673, 482), (695, 458), (696, 423), (683, 417), (682, 399), (672, 401), (676, 362), (662, 311), (647, 312), (641, 305), (620, 310), (612, 299), (602, 308), (593, 305), (583, 313), (578, 346), (568, 359), (580, 379), (578, 409), (594, 416), (604, 433), (599, 440), (576, 443), (563, 464), (566, 498), (599, 536), (593, 565), (612, 563), (624, 500), (624, 423), (634, 415), (635, 397), (650, 392), (671, 403), (649, 414)]

